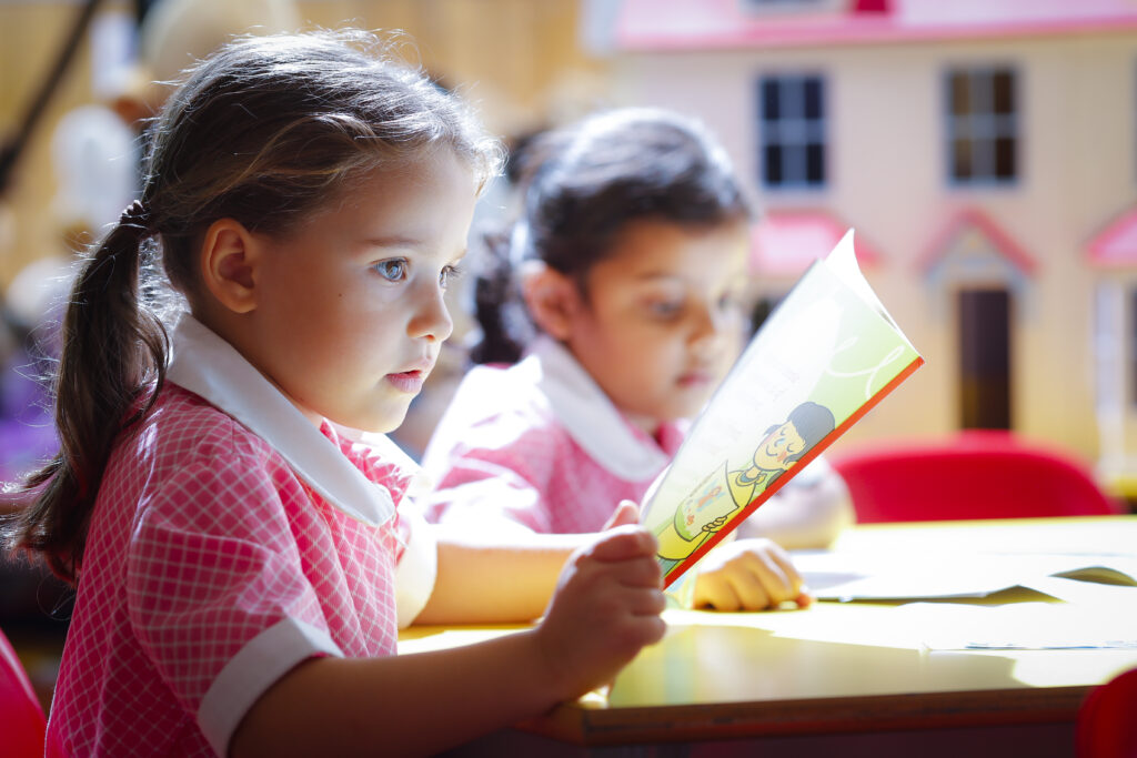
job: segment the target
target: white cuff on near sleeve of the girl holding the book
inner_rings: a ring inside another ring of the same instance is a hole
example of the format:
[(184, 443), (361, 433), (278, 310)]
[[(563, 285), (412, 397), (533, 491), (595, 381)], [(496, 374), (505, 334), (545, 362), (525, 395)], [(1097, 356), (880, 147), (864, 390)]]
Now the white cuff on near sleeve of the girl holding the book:
[(260, 695), (300, 661), (343, 651), (322, 628), (284, 618), (249, 640), (209, 685), (198, 708), (198, 723), (218, 756), (229, 755), (238, 724)]

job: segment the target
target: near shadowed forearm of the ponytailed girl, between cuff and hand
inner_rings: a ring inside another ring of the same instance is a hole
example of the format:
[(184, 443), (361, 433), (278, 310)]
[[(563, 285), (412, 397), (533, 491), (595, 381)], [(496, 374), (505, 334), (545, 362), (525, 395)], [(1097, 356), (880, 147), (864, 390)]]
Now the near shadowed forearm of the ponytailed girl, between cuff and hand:
[(429, 755), (541, 714), (570, 697), (526, 630), (387, 658), (314, 658), (274, 684), (231, 755)]

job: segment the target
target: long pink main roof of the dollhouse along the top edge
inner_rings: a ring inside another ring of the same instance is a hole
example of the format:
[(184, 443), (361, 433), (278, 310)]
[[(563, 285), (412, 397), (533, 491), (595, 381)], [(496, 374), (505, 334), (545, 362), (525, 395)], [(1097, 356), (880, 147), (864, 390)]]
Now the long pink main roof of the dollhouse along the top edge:
[(1137, 26), (1129, 0), (623, 0), (624, 51), (1032, 36)]

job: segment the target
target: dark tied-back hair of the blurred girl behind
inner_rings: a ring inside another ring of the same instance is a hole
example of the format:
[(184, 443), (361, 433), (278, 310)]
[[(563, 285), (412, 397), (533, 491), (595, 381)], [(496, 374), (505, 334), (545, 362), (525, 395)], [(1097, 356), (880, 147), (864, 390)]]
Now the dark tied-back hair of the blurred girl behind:
[(515, 281), (522, 261), (543, 261), (587, 295), (588, 272), (613, 253), (629, 223), (706, 227), (753, 213), (722, 147), (698, 122), (669, 110), (594, 115), (531, 141), (522, 160), (523, 217), (512, 234), (487, 235), (484, 273), (474, 283), (474, 363), (513, 363), (532, 338)]

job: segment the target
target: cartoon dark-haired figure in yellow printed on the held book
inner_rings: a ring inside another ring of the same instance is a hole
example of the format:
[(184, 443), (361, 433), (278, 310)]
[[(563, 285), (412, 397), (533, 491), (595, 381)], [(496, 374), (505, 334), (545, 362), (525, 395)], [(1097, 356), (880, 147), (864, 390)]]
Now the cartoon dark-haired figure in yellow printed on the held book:
[(803, 402), (788, 418), (766, 430), (741, 468), (712, 470), (675, 508), (675, 517), (656, 533), (664, 574), (690, 556), (712, 534), (794, 467), (802, 456), (833, 431), (833, 414), (816, 402)]

